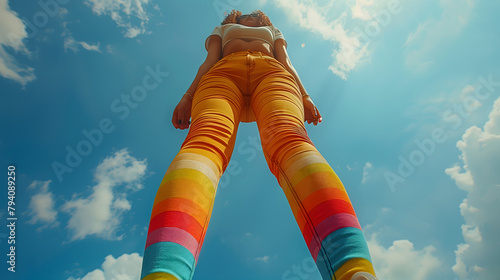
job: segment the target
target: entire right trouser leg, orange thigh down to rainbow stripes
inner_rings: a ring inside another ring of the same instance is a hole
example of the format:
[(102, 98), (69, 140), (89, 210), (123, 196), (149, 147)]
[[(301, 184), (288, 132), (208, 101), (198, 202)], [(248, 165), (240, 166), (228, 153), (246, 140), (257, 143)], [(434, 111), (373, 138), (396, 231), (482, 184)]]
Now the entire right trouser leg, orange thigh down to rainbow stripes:
[(342, 182), (307, 136), (302, 97), (286, 73), (269, 76), (252, 100), (264, 155), (286, 194), (324, 280), (375, 275)]

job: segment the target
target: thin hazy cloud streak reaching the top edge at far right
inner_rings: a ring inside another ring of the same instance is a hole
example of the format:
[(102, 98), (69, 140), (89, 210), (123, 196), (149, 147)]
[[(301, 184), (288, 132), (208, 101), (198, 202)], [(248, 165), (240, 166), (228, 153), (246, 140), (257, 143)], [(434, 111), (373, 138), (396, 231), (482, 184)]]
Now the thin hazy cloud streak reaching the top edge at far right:
[(433, 64), (431, 52), (455, 38), (470, 20), (474, 0), (441, 0), (441, 18), (428, 19), (410, 33), (405, 47), (406, 63), (411, 69), (425, 71)]

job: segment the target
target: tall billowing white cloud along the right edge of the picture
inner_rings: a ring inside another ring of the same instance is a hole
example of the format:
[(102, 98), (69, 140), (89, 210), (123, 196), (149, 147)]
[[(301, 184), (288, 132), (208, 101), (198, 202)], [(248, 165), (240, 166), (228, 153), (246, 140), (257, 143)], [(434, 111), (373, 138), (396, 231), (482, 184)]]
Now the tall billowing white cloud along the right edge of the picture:
[(455, 251), (453, 271), (461, 279), (497, 279), (500, 267), (500, 98), (483, 129), (472, 126), (457, 142), (463, 166), (446, 169), (458, 188), (467, 192), (460, 204), (464, 243)]

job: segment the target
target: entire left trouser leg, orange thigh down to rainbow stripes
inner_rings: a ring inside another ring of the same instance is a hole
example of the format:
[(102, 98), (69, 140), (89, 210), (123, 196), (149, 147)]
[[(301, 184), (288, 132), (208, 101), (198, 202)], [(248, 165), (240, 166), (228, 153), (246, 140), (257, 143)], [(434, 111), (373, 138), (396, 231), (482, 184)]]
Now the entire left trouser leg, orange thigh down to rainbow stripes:
[(200, 88), (193, 99), (189, 133), (155, 197), (142, 280), (193, 277), (217, 184), (234, 149), (243, 105), (241, 96), (234, 94), (238, 88), (230, 81), (200, 83)]

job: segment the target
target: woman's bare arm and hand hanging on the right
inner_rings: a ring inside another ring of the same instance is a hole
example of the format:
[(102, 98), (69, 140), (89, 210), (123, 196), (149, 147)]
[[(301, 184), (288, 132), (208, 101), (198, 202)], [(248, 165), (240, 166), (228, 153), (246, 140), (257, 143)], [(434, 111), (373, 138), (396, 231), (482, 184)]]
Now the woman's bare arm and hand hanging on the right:
[(274, 57), (276, 58), (276, 60), (285, 65), (286, 70), (290, 72), (290, 74), (292, 74), (292, 76), (295, 78), (295, 81), (297, 82), (297, 85), (299, 86), (300, 93), (302, 94), (302, 101), (304, 103), (305, 120), (307, 121), (307, 123), (312, 122), (314, 125), (317, 125), (323, 120), (323, 118), (321, 117), (318, 108), (316, 108), (314, 102), (304, 88), (304, 85), (299, 78), (299, 74), (297, 74), (297, 71), (293, 67), (292, 62), (290, 61), (290, 57), (288, 57), (285, 41), (283, 39), (278, 39), (276, 40), (276, 42), (274, 42)]

